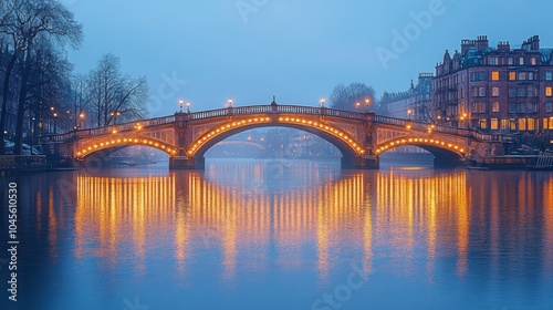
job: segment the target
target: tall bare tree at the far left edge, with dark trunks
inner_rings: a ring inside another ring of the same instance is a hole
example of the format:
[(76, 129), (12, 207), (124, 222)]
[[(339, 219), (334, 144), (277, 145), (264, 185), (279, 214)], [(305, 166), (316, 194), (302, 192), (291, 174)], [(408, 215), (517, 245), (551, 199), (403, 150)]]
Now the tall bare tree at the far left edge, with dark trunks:
[[(58, 0), (4, 0), (0, 16), (0, 35), (10, 46), (11, 59), (4, 74), (2, 90), (2, 116), (0, 130), (6, 126), (7, 100), (10, 94), (9, 80), (13, 74), (15, 63), (19, 65), (20, 87), (15, 122), (14, 154), (21, 154), (23, 138), (23, 120), (25, 106), (29, 103), (29, 82), (34, 65), (34, 48), (39, 39), (48, 40), (53, 45), (63, 48), (70, 44), (73, 48), (82, 41), (82, 27), (74, 20), (74, 16)], [(3, 138), (0, 153), (3, 153)]]

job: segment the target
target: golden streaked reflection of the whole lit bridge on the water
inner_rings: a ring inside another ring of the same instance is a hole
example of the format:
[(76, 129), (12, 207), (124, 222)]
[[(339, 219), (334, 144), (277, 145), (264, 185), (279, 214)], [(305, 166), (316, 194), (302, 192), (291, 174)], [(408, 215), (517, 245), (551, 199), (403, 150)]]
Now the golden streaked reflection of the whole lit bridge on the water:
[[(262, 168), (252, 170), (261, 174), (260, 178), (267, 177)], [(500, 190), (495, 185), (472, 179), (473, 186), (468, 188), (469, 177), (465, 172), (426, 177), (371, 172), (332, 182), (315, 179), (313, 186), (298, 190), (244, 192), (239, 188), (249, 184), (250, 174), (241, 176), (237, 186), (208, 180), (194, 172), (135, 178), (80, 175), (74, 254), (79, 258), (91, 252), (96, 257), (133, 257), (139, 270), (146, 268), (145, 248), (159, 247), (170, 251), (166, 255), (174, 256), (179, 272), (186, 275), (188, 261), (198, 259), (195, 252), (216, 249), (221, 251), (223, 277), (231, 278), (237, 264), (244, 260), (252, 270), (269, 268), (273, 259), (269, 252), (274, 250), (281, 268), (304, 268), (309, 259), (300, 249), (314, 244), (316, 267), (325, 278), (333, 267), (335, 248), (348, 245), (363, 254), (366, 271), (375, 256), (401, 252), (389, 261), (397, 272), (414, 270), (410, 267), (422, 256), (427, 257), (429, 275), (439, 271), (438, 264), (455, 264), (458, 275), (463, 276), (479, 272), (474, 270), (478, 266), (469, 264), (471, 244), (490, 236), (492, 264), (505, 246), (524, 242), (521, 230), (497, 230), (498, 223), (508, 220), (513, 227), (543, 229), (544, 261), (553, 261), (552, 192), (545, 190), (542, 207), (533, 204), (539, 198), (529, 188), (532, 180), (515, 179), (513, 185), (528, 190), (507, 195), (519, 200), (520, 209), (502, 209), (499, 199), (479, 202), (482, 193)], [(551, 180), (544, 186), (553, 188)], [(486, 223), (482, 217), (488, 216), (491, 227), (480, 227), (479, 223)], [(121, 252), (129, 242), (132, 252)], [(250, 249), (247, 251), (257, 257), (240, 256), (240, 249)], [(111, 264), (119, 262), (113, 259)], [(553, 272), (551, 264), (543, 268)]]

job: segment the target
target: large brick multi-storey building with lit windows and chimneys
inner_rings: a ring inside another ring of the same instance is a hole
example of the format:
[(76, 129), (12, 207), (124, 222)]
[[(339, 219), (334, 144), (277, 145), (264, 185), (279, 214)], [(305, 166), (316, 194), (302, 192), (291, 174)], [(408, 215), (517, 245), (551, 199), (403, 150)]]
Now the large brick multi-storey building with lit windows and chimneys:
[(434, 115), (439, 123), (484, 132), (553, 130), (553, 49), (534, 35), (521, 48), (489, 45), (486, 35), (446, 50), (436, 65)]

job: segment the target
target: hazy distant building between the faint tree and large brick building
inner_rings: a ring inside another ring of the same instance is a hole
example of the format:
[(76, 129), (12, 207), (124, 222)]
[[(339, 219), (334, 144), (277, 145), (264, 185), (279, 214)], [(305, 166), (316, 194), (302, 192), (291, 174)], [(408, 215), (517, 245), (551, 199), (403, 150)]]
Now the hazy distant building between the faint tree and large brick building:
[(384, 92), (380, 108), (392, 117), (431, 122), (432, 73), (420, 73), (418, 83), (405, 92)]

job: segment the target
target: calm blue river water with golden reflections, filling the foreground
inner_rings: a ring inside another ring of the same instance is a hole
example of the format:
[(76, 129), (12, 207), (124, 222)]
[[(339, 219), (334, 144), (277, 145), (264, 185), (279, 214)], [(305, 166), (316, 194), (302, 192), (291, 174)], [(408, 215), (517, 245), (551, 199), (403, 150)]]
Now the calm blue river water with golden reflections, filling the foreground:
[(3, 193), (1, 309), (553, 309), (550, 173), (210, 161), (10, 180), (19, 302)]

